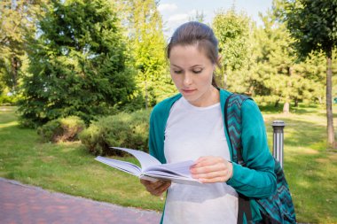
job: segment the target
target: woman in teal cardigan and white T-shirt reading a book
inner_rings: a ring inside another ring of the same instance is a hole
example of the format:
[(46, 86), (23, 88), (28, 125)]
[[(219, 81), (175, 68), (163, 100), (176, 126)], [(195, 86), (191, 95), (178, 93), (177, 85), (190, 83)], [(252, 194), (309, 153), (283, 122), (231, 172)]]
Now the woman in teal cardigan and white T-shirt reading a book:
[[(247, 167), (231, 162), (223, 120), (223, 105), (231, 93), (216, 88), (217, 45), (211, 28), (188, 22), (176, 29), (167, 48), (171, 78), (180, 94), (153, 108), (150, 153), (161, 163), (195, 160), (191, 174), (203, 184), (141, 180), (155, 196), (168, 191), (161, 219), (164, 224), (237, 223), (238, 192), (269, 197), (276, 189), (263, 118), (252, 100), (241, 107), (242, 156)], [(262, 208), (254, 201), (250, 206), (253, 220), (262, 220)]]

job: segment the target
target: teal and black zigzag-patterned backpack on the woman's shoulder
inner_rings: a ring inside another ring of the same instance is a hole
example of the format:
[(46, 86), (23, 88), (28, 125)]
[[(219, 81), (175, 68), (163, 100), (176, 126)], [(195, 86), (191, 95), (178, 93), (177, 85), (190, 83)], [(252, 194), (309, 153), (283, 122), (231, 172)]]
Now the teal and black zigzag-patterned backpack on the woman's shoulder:
[[(253, 100), (250, 97), (231, 94), (224, 104), (224, 118), (227, 132), (230, 137), (233, 161), (246, 166), (242, 158), (241, 144), (241, 104), (245, 100)], [(267, 198), (248, 198), (239, 194), (238, 223), (243, 223), (243, 214), (246, 214), (247, 222), (253, 223), (250, 210), (250, 200), (255, 200), (263, 207), (261, 215), (262, 223), (283, 224), (296, 223), (294, 204), (286, 182), (286, 176), (279, 162), (274, 158), (274, 172), (277, 176), (277, 191)]]

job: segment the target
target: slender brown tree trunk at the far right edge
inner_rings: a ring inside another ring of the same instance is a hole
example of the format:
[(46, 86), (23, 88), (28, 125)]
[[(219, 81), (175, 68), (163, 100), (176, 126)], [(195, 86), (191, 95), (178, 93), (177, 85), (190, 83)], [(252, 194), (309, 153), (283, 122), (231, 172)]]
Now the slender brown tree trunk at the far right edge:
[(327, 143), (329, 147), (334, 147), (332, 56), (333, 52), (332, 49), (330, 49), (326, 53), (326, 120), (327, 120)]

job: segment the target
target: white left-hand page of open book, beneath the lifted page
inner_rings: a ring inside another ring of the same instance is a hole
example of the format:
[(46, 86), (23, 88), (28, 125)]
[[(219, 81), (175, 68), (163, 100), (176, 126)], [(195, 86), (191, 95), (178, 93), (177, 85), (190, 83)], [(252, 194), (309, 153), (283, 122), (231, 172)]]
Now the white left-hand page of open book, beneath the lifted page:
[(116, 169), (127, 172), (129, 174), (134, 174), (138, 177), (142, 174), (140, 167), (132, 163), (129, 163), (129, 162), (125, 162), (125, 161), (121, 161), (121, 160), (117, 160), (113, 158), (105, 158), (105, 157), (97, 157), (95, 159), (108, 166), (113, 166)]

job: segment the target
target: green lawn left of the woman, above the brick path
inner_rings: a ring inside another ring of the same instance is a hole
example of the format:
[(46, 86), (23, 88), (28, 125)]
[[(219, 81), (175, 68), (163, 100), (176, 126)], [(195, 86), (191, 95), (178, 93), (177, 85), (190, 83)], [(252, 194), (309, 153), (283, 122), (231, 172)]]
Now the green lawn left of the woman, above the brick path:
[(4, 178), (118, 205), (163, 207), (137, 177), (95, 161), (81, 143), (41, 143), (35, 130), (18, 126), (14, 108), (0, 107), (0, 143)]

